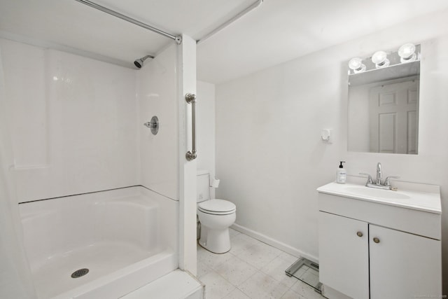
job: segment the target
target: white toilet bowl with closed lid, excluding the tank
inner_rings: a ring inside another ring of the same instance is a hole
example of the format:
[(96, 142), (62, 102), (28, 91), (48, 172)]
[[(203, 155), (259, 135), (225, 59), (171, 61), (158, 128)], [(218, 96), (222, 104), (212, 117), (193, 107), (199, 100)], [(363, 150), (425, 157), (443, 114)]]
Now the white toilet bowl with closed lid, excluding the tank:
[(229, 227), (235, 223), (237, 207), (227, 200), (207, 200), (197, 204), (201, 223), (200, 246), (213, 253), (225, 253), (231, 248)]

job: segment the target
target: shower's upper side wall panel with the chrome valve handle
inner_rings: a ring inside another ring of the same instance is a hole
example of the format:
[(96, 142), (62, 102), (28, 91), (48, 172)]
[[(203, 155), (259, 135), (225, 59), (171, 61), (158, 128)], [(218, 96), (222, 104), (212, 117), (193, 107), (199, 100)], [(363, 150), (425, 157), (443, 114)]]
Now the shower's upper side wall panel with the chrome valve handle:
[[(176, 45), (137, 73), (139, 104), (140, 183), (157, 193), (179, 200), (179, 120), (176, 99)], [(158, 134), (143, 124), (157, 116)]]

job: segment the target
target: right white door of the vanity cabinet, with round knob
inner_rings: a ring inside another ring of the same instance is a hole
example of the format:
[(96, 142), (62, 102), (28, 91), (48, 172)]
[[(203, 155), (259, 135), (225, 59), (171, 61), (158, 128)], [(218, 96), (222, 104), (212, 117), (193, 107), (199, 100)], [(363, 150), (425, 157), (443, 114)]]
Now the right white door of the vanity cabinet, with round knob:
[(442, 298), (439, 240), (369, 226), (371, 299)]

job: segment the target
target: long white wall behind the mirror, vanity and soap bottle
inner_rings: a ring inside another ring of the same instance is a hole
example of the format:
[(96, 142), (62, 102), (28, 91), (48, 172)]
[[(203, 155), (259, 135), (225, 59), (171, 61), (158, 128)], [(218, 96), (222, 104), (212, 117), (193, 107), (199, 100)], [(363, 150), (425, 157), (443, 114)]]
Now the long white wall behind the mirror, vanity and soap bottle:
[[(317, 257), (316, 188), (335, 179), (339, 160), (349, 175), (374, 174), (381, 162), (386, 175), (440, 185), (448, 209), (447, 18), (442, 11), (217, 85), (217, 196), (235, 202), (236, 223)], [(409, 41), (423, 42), (419, 155), (347, 152), (348, 60)], [(332, 144), (321, 141), (323, 128), (333, 130)], [(442, 232), (448, 277), (444, 214)]]

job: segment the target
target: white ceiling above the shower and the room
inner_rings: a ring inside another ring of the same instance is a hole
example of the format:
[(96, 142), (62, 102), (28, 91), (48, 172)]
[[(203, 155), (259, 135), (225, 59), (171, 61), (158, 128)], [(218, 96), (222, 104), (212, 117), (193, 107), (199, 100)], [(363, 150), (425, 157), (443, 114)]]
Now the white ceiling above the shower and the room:
[[(93, 0), (194, 39), (255, 0)], [(197, 46), (197, 78), (222, 83), (448, 8), (447, 0), (265, 0)], [(133, 67), (172, 40), (74, 0), (0, 0), (0, 37)]]

